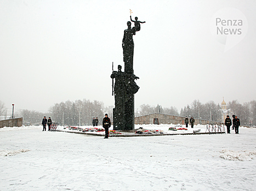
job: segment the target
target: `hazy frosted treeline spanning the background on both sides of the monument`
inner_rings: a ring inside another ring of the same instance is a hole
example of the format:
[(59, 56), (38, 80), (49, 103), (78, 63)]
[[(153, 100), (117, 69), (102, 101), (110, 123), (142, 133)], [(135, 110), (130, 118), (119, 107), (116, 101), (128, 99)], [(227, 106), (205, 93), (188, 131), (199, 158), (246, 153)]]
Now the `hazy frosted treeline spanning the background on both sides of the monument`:
[[(20, 110), (15, 116), (23, 117), (24, 124), (41, 124), (43, 116), (51, 117), (54, 122), (67, 126), (77, 126), (79, 122), (81, 125), (92, 125), (93, 117), (99, 118), (99, 123), (104, 117), (104, 114), (109, 114), (112, 120), (113, 106), (104, 107), (102, 102), (94, 100), (76, 100), (71, 102), (61, 102), (54, 104), (49, 108), (49, 112), (43, 113), (31, 110)], [(256, 100), (240, 104), (237, 100), (227, 103), (227, 110), (229, 110), (230, 117), (237, 115), (240, 118), (241, 124), (249, 126), (256, 126)], [(5, 111), (4, 103), (0, 100), (0, 114), (3, 115)], [(194, 100), (178, 112), (177, 108), (171, 106), (170, 108), (162, 108), (162, 106), (150, 106), (148, 104), (140, 105), (140, 109), (135, 109), (135, 116), (143, 116), (147, 114), (161, 113), (176, 116), (187, 116), (194, 118), (201, 118), (203, 120), (221, 121), (223, 113), (221, 106), (209, 101), (205, 104), (199, 100)], [(212, 118), (211, 118), (212, 117)], [(80, 120), (79, 120), (80, 119)]]

